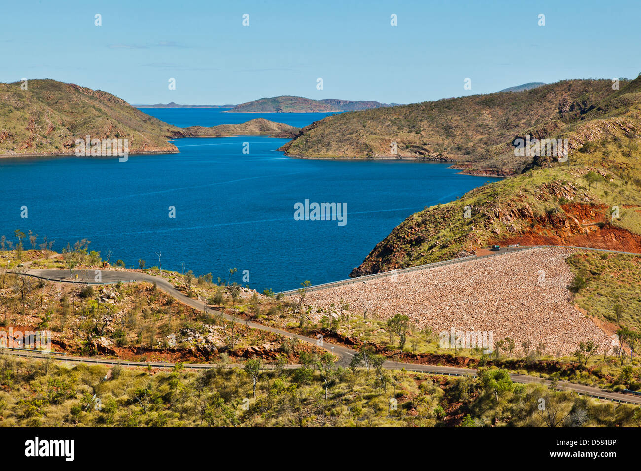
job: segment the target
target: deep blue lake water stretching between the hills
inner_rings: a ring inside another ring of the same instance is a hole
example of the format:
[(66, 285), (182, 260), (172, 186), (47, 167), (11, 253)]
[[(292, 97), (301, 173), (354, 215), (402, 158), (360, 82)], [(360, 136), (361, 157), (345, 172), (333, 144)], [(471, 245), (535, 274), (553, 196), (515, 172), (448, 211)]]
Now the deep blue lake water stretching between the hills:
[[(144, 110), (171, 124), (212, 126), (246, 120), (220, 110)], [(286, 117), (305, 126), (320, 113)], [(172, 117), (175, 115), (175, 118)], [(194, 115), (193, 117), (191, 115)], [(251, 114), (249, 119), (273, 115)], [(320, 118), (324, 114), (320, 115)], [(278, 119), (277, 119), (278, 120)], [(244, 142), (250, 153), (242, 154)], [(228, 269), (263, 290), (344, 279), (395, 226), (424, 206), (447, 202), (485, 181), (445, 163), (288, 158), (285, 139), (262, 136), (175, 140), (181, 153), (118, 158), (0, 159), (0, 235), (28, 229), (67, 242), (87, 238), (112, 263), (212, 273)], [(294, 204), (347, 204), (347, 224), (294, 220)], [(28, 218), (21, 218), (21, 206)], [(176, 217), (169, 218), (169, 206)], [(38, 243), (41, 240), (38, 240)]]

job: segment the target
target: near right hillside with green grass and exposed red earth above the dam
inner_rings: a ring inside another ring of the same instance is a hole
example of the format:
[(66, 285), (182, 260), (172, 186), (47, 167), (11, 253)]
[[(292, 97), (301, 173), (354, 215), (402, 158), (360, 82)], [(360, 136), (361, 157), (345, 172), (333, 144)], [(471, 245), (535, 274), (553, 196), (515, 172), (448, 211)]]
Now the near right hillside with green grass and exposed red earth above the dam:
[[(567, 91), (570, 85), (576, 84), (565, 83), (563, 88)], [(538, 128), (557, 129), (568, 139), (567, 161), (529, 157), (512, 178), (411, 215), (351, 276), (455, 258), (490, 244), (577, 245), (641, 253), (641, 78), (613, 92), (598, 82), (593, 85), (601, 92), (579, 101), (556, 95), (560, 119), (554, 126)]]

